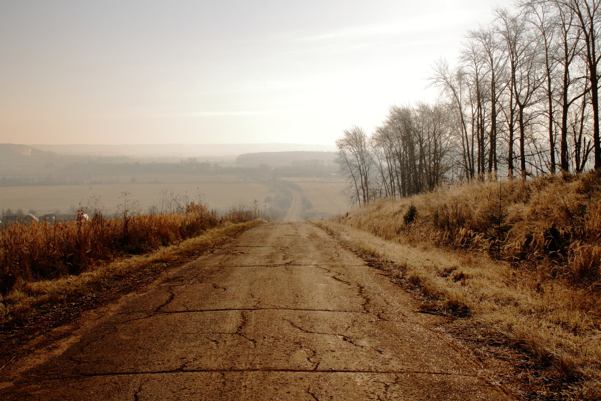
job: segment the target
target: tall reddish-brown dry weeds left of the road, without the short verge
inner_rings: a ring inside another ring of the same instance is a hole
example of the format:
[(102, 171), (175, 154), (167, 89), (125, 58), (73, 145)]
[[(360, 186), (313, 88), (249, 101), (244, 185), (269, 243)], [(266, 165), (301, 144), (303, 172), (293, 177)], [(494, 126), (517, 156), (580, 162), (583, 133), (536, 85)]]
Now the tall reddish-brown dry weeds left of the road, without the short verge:
[(75, 221), (11, 224), (0, 228), (0, 294), (31, 281), (78, 275), (103, 260), (171, 245), (226, 221), (258, 217), (257, 210), (243, 206), (218, 216), (191, 201), (182, 213), (123, 213), (113, 218), (96, 213), (86, 221), (80, 212)]

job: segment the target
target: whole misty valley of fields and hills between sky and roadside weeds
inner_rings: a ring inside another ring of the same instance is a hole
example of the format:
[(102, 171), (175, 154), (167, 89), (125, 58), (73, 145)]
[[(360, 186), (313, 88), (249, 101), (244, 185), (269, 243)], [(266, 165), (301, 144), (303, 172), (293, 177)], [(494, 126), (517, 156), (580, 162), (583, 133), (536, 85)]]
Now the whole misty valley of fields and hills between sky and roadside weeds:
[[(233, 153), (244, 148), (263, 152)], [(133, 213), (163, 213), (194, 200), (219, 213), (257, 204), (266, 216), (282, 219), (297, 197), (294, 219), (327, 217), (348, 202), (335, 153), (314, 150), (321, 148), (331, 147), (0, 144), (0, 208), (2, 217), (70, 218), (80, 209), (113, 215), (126, 204)], [(287, 151), (265, 152), (270, 149)]]

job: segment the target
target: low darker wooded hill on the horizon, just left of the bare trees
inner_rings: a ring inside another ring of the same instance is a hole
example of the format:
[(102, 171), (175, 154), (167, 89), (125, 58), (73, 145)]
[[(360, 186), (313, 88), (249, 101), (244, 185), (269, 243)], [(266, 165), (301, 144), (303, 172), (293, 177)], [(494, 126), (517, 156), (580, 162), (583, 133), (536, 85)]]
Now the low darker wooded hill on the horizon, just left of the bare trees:
[(261, 164), (270, 167), (300, 165), (332, 165), (336, 152), (260, 152), (245, 153), (236, 158), (236, 165), (258, 167)]

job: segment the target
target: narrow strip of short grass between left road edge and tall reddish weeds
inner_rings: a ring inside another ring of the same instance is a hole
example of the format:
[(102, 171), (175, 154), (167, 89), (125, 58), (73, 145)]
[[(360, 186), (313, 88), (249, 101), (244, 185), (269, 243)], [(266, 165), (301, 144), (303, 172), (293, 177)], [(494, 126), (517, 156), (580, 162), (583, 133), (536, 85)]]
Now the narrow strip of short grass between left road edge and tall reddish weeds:
[(79, 275), (55, 280), (23, 283), (2, 298), (0, 296), (0, 323), (10, 325), (34, 316), (41, 308), (56, 307), (67, 300), (103, 292), (124, 278), (144, 275), (157, 265), (179, 262), (209, 248), (220, 240), (246, 230), (261, 221), (226, 222), (218, 228), (205, 231), (197, 237), (169, 246), (161, 246), (151, 253), (120, 257), (109, 263), (99, 263)]

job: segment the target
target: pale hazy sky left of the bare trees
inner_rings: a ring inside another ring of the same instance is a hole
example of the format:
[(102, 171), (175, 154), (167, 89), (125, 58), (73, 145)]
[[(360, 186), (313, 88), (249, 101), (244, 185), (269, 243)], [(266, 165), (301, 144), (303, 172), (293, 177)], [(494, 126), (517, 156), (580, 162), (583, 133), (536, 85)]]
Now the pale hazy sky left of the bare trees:
[(507, 0), (0, 0), (0, 142), (334, 144)]

